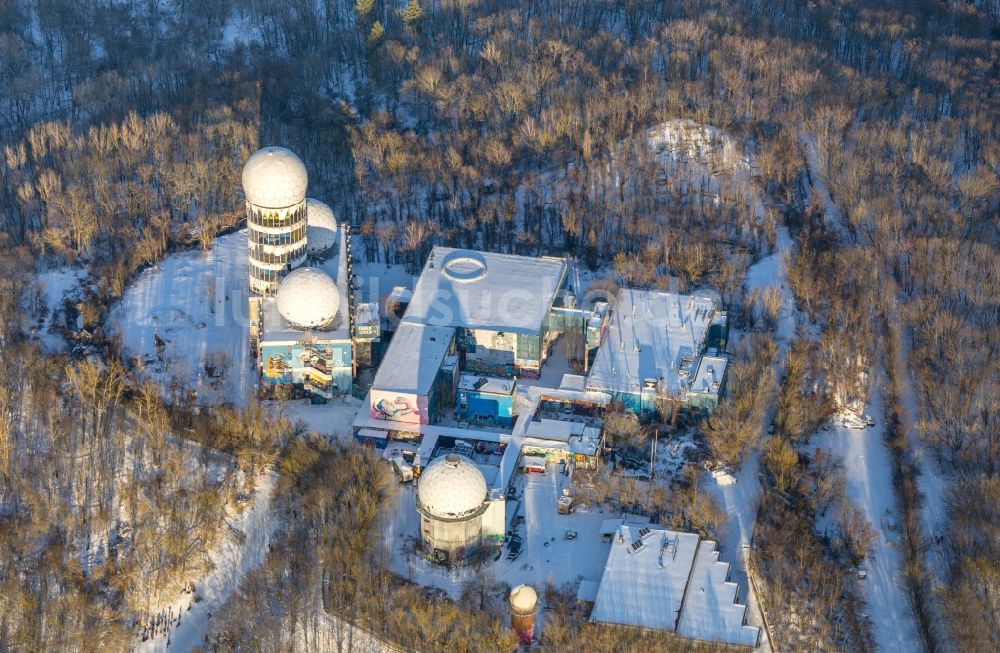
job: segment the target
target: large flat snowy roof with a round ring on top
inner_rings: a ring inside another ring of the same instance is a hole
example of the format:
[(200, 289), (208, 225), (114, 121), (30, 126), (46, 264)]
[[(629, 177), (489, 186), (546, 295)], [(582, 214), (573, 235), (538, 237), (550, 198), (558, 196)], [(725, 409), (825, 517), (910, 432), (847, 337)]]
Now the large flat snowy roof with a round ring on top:
[(538, 334), (565, 275), (561, 258), (435, 247), (404, 319)]

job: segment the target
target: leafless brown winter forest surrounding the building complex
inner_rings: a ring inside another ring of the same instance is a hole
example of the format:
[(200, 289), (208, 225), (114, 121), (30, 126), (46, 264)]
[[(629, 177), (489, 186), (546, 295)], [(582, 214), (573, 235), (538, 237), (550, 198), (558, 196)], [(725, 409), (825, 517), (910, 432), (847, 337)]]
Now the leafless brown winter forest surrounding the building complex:
[[(370, 261), (566, 252), (619, 283), (716, 288), (757, 333), (701, 433), (734, 465), (762, 451), (753, 562), (769, 611), (813, 617), (777, 623), (779, 645), (873, 648), (841, 574), (865, 524), (845, 509), (836, 541), (814, 531), (843, 481), (803, 452), (836, 399), (865, 396), (864, 370), (886, 370), (924, 649), (997, 650), (998, 21), (993, 0), (0, 0), (0, 650), (129, 648), (265, 464), (280, 554), (206, 648), (290, 650), (323, 608), (418, 650), (512, 649), (497, 579), (452, 603), (380, 564), (367, 543), (391, 483), (365, 452), (259, 406), (164, 405), (102, 342), (138, 271), (239, 224), (239, 171), (265, 144), (302, 156)], [(747, 173), (663, 174), (646, 136), (677, 119), (734, 139)], [(742, 281), (782, 227), (804, 316), (779, 374), (775, 298)], [(65, 264), (89, 270), (76, 309), (103, 362), (29, 337), (32, 273)], [(939, 541), (921, 522), (929, 459)], [(688, 527), (720, 519), (659, 500)], [(544, 650), (715, 650), (585, 624), (561, 592)]]

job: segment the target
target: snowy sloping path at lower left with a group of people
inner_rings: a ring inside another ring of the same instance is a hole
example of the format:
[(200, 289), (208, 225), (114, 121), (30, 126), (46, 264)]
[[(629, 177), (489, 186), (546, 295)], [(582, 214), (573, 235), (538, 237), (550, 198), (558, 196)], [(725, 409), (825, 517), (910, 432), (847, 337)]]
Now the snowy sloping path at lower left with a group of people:
[(182, 593), (169, 606), (180, 623), (167, 634), (139, 642), (135, 650), (190, 651), (204, 643), (213, 611), (229, 599), (243, 577), (267, 556), (277, 522), (271, 518), (271, 496), (277, 476), (268, 472), (257, 480), (253, 505), (229, 521), (230, 533), (209, 552), (213, 569), (195, 583), (194, 594)]

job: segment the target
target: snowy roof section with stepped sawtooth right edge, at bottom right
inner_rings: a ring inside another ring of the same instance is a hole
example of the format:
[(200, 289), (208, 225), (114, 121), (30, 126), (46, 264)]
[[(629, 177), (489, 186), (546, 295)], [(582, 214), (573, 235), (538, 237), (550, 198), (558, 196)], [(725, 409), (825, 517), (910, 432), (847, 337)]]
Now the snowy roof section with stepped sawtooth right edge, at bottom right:
[(736, 603), (736, 583), (729, 582), (729, 563), (719, 561), (715, 542), (698, 547), (694, 569), (677, 622), (682, 637), (756, 646), (760, 629), (743, 625), (747, 607)]

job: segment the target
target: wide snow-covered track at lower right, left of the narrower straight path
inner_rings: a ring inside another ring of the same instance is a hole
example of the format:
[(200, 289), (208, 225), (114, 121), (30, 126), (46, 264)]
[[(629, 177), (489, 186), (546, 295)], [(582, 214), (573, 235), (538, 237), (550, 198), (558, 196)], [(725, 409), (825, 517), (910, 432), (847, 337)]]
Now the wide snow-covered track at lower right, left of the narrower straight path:
[(847, 498), (875, 528), (875, 541), (864, 562), (868, 577), (857, 581), (868, 604), (880, 651), (920, 650), (910, 601), (903, 580), (900, 514), (892, 485), (892, 460), (883, 440), (882, 402), (874, 396), (867, 410), (874, 428), (850, 429), (834, 424), (813, 436), (810, 448), (825, 449), (843, 459)]

